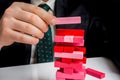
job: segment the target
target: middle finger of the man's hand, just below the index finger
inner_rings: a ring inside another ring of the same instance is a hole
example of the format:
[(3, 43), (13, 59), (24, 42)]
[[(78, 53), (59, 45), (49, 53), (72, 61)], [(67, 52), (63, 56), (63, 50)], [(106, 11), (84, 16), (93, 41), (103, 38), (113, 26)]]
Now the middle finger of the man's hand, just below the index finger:
[[(48, 25), (39, 16), (23, 10), (18, 10), (18, 11), (19, 12), (16, 12), (16, 14), (13, 15), (17, 20), (27, 22), (40, 29), (42, 32), (47, 32)], [(21, 14), (24, 14), (25, 16)]]

